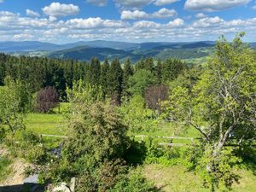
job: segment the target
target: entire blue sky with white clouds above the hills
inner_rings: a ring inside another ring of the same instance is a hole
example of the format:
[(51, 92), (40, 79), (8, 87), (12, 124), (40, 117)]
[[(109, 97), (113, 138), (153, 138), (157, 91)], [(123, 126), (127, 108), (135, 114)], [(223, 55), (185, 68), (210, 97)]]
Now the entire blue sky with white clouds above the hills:
[(0, 41), (256, 42), (256, 0), (0, 0)]

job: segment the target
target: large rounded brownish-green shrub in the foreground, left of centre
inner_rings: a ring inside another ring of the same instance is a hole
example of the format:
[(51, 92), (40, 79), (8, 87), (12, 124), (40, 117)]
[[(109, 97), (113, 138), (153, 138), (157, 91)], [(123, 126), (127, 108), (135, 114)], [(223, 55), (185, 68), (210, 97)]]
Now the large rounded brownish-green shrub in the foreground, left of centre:
[(127, 127), (115, 108), (102, 102), (79, 110), (70, 121), (61, 159), (51, 163), (44, 180), (61, 182), (76, 176), (79, 191), (110, 189), (123, 172), (122, 158), (130, 146)]

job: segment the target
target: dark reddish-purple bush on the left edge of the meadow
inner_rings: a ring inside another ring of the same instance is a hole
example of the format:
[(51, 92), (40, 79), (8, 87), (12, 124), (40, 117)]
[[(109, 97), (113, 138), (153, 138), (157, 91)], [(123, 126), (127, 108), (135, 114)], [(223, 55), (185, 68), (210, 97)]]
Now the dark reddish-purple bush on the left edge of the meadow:
[(48, 113), (59, 103), (59, 94), (53, 87), (46, 87), (38, 92), (36, 109), (41, 113)]

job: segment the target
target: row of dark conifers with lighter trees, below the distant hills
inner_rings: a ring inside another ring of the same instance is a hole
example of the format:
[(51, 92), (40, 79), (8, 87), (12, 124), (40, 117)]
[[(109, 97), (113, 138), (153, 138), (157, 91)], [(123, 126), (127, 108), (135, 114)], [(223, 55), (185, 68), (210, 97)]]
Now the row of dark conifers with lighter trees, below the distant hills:
[(183, 61), (155, 62), (152, 57), (135, 64), (128, 59), (121, 64), (118, 59), (106, 59), (101, 63), (97, 58), (85, 62), (0, 54), (0, 86), (4, 85), (6, 77), (25, 81), (32, 92), (51, 86), (65, 101), (67, 87), (72, 89), (73, 82), (82, 79), (85, 84), (101, 87), (104, 98), (120, 101), (122, 96), (143, 94), (150, 84), (164, 84), (176, 79), (185, 68)]

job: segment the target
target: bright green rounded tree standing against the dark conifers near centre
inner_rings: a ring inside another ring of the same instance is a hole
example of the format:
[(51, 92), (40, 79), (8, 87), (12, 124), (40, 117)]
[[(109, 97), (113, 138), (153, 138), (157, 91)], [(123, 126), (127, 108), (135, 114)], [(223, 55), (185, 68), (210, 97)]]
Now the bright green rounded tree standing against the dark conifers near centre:
[(144, 90), (154, 84), (156, 79), (154, 78), (154, 75), (150, 73), (146, 69), (139, 69), (137, 72), (130, 77), (129, 79), (129, 85), (132, 95), (140, 95), (143, 96)]

